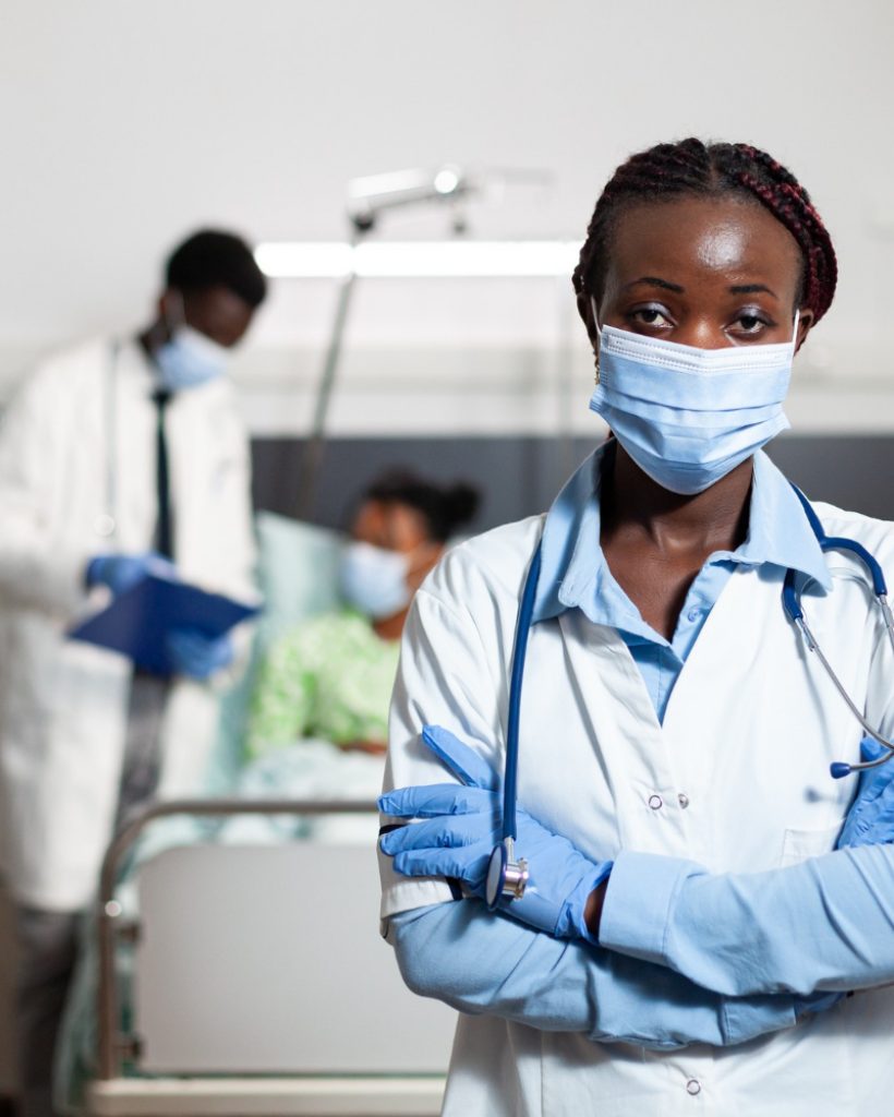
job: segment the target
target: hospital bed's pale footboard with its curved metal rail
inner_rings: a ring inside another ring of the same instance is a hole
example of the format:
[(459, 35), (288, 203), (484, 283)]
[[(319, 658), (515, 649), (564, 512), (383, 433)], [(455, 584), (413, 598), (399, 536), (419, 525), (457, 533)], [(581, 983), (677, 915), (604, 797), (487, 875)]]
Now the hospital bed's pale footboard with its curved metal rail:
[[(372, 846), (174, 846), (133, 870), (136, 920), (116, 899), (135, 843), (165, 817), (371, 810), (357, 802), (167, 802), (119, 834), (106, 856), (97, 914), (98, 1077), (89, 1113), (440, 1111), (455, 1013), (403, 986), (377, 934)], [(125, 1016), (116, 963), (128, 952)]]

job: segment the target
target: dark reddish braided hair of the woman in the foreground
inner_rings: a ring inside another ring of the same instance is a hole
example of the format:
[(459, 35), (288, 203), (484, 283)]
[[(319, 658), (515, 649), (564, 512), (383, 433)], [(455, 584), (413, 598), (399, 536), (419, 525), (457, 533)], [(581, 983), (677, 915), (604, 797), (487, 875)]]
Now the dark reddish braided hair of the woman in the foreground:
[(819, 322), (831, 304), (838, 278), (831, 239), (795, 175), (767, 152), (744, 143), (680, 140), (657, 144), (622, 163), (596, 202), (574, 271), (577, 294), (602, 295), (609, 241), (621, 213), (686, 194), (738, 194), (768, 209), (798, 242), (802, 259), (798, 302), (813, 311), (814, 324)]

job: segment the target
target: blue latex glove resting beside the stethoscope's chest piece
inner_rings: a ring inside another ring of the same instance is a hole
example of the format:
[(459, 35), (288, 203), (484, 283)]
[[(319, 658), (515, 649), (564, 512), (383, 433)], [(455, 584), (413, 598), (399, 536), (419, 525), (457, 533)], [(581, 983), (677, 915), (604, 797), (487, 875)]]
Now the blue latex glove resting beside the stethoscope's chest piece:
[[(440, 726), (426, 725), (424, 744), (462, 785), (400, 787), (378, 801), (384, 814), (423, 819), (379, 839), (394, 868), (407, 877), (453, 877), (474, 896), (484, 895), (493, 847), (502, 838), (499, 779), (473, 750)], [(530, 879), (521, 899), (501, 910), (558, 938), (593, 941), (584, 922), (587, 899), (606, 879), (611, 861), (594, 862), (567, 838), (552, 833), (517, 808), (516, 855), (528, 862)]]

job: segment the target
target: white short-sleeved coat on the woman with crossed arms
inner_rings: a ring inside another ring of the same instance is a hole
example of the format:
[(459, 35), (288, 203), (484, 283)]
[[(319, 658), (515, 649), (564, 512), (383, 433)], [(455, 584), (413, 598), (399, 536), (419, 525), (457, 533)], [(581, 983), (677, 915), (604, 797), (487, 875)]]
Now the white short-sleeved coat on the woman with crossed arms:
[[(861, 540), (894, 571), (890, 525), (817, 510), (829, 535)], [(416, 595), (386, 789), (444, 781), (419, 743), (425, 723), (452, 729), (502, 771), (518, 600), (540, 529), (536, 518), (470, 541)], [(806, 612), (852, 696), (890, 733), (894, 657), (866, 576), (837, 554), (828, 566), (834, 588), (826, 598), (805, 595)], [(831, 850), (854, 784), (833, 781), (829, 763), (856, 760), (862, 733), (785, 617), (780, 590), (781, 575), (737, 569), (663, 725), (615, 630), (579, 610), (535, 626), (519, 802), (594, 859), (631, 849), (690, 858), (714, 872), (759, 871)], [(383, 917), (450, 900), (444, 882), (400, 877), (382, 855), (379, 862)], [(461, 1015), (444, 1113), (882, 1114), (894, 1089), (892, 1034), (891, 989), (857, 993), (792, 1029), (728, 1049), (652, 1051)]]

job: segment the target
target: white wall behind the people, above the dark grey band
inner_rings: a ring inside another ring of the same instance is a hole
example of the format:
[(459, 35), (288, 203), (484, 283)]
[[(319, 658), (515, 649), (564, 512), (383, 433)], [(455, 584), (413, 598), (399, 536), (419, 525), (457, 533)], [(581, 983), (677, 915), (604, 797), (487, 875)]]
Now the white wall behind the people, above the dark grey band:
[[(473, 236), (583, 238), (618, 161), (696, 133), (789, 163), (835, 235), (842, 287), (792, 414), (887, 427), (892, 32), (885, 0), (7, 2), (0, 383), (49, 345), (145, 318), (164, 250), (199, 223), (339, 238), (349, 178), (452, 160), (552, 175), (470, 206)], [(445, 226), (405, 214), (383, 235)], [(237, 367), (256, 429), (306, 424), (331, 298), (278, 285)], [(464, 429), (471, 414), (551, 430), (568, 413), (586, 429), (569, 306), (551, 281), (367, 283), (336, 429)]]

